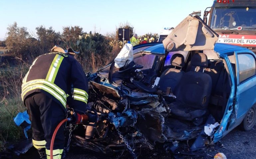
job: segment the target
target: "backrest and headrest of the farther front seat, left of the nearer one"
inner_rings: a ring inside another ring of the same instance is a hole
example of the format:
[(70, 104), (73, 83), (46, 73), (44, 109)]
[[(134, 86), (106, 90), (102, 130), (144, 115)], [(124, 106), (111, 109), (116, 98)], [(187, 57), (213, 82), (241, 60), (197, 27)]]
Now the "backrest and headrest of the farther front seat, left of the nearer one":
[(167, 87), (171, 87), (171, 90), (174, 91), (184, 74), (184, 71), (181, 70), (185, 65), (184, 56), (182, 54), (174, 54), (170, 62), (173, 68), (166, 69), (161, 74), (158, 84), (160, 90), (164, 92), (166, 92)]

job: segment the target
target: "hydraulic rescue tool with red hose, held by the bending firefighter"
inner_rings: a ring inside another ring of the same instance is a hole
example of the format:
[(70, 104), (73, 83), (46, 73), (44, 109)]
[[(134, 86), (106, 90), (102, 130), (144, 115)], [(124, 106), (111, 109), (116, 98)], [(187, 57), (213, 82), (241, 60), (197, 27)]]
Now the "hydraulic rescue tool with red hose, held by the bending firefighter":
[[(87, 109), (87, 111), (85, 112), (85, 114), (78, 114), (76, 112), (74, 112), (74, 110), (72, 108), (67, 108), (66, 110), (66, 119), (62, 120), (58, 126), (56, 127), (54, 133), (53, 133), (53, 137), (51, 140), (51, 146), (50, 146), (50, 158), (53, 159), (53, 145), (54, 145), (54, 140), (55, 140), (55, 136), (58, 132), (58, 130), (60, 129), (60, 127), (65, 123), (65, 122), (70, 122), (72, 124), (81, 124), (81, 125), (88, 125), (88, 126), (96, 126), (97, 125), (97, 121), (98, 121), (98, 114), (96, 112), (96, 110), (94, 109)], [(91, 124), (93, 123), (93, 124)]]

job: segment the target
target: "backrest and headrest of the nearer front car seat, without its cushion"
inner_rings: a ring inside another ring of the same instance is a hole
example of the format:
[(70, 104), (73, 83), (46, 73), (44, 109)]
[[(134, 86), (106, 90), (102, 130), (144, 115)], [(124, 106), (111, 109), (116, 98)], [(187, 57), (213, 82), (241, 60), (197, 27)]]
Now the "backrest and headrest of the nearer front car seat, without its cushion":
[(205, 54), (194, 54), (191, 64), (199, 68), (202, 72), (186, 72), (177, 87), (175, 95), (177, 100), (185, 103), (194, 109), (207, 109), (211, 94), (212, 81), (208, 74), (203, 73), (204, 68), (208, 66), (208, 60)]

